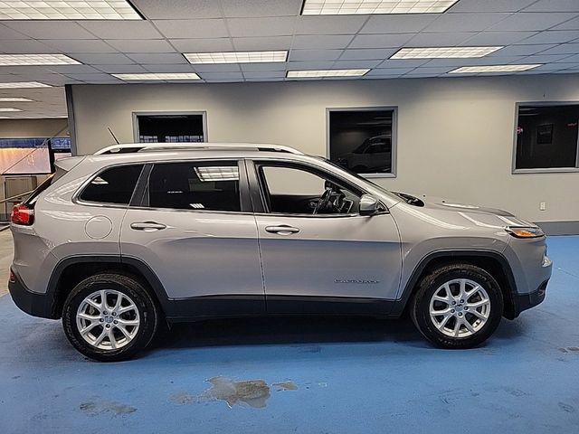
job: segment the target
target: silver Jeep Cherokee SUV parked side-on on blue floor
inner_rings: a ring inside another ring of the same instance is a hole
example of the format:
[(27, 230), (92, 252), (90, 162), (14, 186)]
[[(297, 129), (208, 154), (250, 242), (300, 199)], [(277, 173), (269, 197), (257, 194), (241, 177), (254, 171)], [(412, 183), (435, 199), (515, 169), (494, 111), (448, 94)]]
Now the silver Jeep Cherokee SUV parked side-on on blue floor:
[(127, 359), (216, 316), (412, 316), (469, 348), (542, 302), (546, 237), (508, 212), (391, 193), (286, 146), (138, 144), (59, 160), (14, 207), (9, 288), (71, 344)]

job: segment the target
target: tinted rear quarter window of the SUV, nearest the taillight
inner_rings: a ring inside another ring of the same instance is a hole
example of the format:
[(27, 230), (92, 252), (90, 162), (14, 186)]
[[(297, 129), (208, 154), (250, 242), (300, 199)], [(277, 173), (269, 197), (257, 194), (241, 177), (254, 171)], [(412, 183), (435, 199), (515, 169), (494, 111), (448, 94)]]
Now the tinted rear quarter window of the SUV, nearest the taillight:
[(143, 165), (111, 167), (96, 176), (81, 193), (87, 202), (128, 204)]

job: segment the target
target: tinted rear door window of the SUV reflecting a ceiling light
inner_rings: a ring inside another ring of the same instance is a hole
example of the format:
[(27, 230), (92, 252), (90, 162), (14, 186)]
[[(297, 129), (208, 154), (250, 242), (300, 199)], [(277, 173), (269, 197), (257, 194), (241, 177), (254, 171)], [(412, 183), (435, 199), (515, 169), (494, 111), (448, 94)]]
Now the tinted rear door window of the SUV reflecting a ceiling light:
[(149, 206), (178, 210), (241, 211), (237, 162), (155, 165)]

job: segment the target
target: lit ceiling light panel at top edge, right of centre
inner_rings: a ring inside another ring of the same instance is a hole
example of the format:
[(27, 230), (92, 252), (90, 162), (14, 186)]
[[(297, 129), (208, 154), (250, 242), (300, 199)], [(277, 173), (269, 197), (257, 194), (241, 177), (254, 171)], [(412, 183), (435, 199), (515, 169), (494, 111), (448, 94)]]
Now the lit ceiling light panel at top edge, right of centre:
[(302, 15), (441, 14), (459, 0), (305, 0)]

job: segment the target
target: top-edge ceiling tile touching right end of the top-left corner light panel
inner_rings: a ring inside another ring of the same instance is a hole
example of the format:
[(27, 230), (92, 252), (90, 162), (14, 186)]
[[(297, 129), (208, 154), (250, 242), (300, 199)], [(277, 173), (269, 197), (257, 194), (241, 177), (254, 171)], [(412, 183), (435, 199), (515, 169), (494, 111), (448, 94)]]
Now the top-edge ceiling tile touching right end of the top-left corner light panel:
[(217, 0), (132, 0), (141, 14), (149, 20), (160, 18), (220, 18), (221, 5)]

